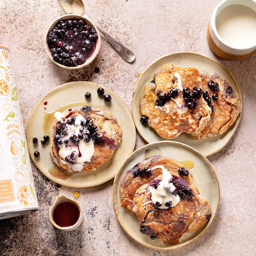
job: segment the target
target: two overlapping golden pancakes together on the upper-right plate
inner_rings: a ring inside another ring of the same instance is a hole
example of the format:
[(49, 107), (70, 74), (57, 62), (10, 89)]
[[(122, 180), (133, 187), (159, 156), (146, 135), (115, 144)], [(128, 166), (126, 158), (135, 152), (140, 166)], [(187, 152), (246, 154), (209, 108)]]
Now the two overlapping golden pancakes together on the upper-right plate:
[[(164, 94), (178, 87), (175, 73), (181, 77), (182, 88), (188, 87), (192, 91), (193, 87), (198, 87), (203, 92), (207, 91), (209, 97), (217, 94), (218, 99), (212, 100), (211, 103), (213, 107), (210, 108), (201, 95), (196, 100), (196, 107), (189, 109), (186, 107), (181, 91), (175, 99), (170, 99), (165, 105), (158, 106), (158, 92)], [(207, 84), (209, 80), (218, 84), (217, 92), (209, 88)], [(241, 100), (238, 94), (217, 73), (209, 75), (205, 70), (192, 67), (181, 68), (173, 64), (164, 65), (154, 74), (154, 82), (146, 84), (140, 102), (140, 113), (148, 117), (148, 126), (166, 139), (172, 139), (184, 132), (196, 140), (222, 134), (233, 125), (240, 112)]]

